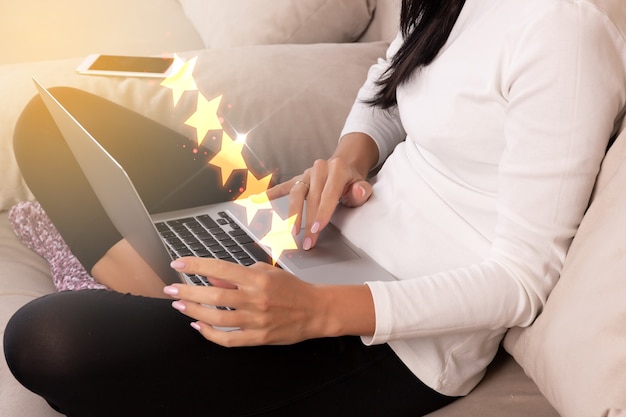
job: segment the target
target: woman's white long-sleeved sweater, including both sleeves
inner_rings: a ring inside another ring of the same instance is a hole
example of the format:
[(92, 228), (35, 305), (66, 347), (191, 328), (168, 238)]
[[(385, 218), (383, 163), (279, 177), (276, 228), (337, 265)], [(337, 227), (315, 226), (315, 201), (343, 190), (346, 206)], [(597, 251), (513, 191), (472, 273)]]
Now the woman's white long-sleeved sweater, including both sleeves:
[(360, 102), (388, 60), (359, 93), (343, 133), (371, 135), (386, 162), (334, 222), (398, 278), (368, 284), (363, 340), (441, 393), (467, 394), (559, 277), (626, 102), (623, 1), (467, 0), (391, 115)]

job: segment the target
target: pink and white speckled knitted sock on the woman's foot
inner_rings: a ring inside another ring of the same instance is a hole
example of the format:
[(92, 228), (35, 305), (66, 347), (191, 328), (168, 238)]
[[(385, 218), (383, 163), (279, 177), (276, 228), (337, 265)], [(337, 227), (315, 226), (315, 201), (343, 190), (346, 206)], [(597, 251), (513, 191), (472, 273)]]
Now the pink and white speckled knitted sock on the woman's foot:
[(13, 206), (9, 222), (22, 243), (48, 261), (58, 291), (107, 288), (96, 282), (76, 259), (38, 202)]

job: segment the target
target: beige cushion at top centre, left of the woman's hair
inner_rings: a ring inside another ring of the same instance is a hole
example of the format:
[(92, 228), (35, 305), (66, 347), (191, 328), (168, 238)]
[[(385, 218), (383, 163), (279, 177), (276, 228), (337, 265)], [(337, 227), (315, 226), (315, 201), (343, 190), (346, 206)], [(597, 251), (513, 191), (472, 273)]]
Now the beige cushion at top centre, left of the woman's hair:
[(207, 48), (353, 42), (374, 0), (180, 0)]

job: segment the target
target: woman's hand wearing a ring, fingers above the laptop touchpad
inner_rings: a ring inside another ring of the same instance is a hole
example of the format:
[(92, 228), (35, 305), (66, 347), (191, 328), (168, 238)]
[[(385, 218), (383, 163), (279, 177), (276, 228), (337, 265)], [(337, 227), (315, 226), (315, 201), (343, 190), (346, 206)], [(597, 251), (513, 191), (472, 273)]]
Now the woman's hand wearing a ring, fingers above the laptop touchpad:
[(303, 249), (315, 246), (337, 204), (358, 207), (367, 202), (372, 186), (366, 176), (377, 158), (378, 148), (369, 136), (348, 135), (330, 159), (315, 161), (303, 174), (267, 191), (270, 200), (289, 195), (289, 213), (297, 214), (294, 234), (300, 233), (305, 213)]

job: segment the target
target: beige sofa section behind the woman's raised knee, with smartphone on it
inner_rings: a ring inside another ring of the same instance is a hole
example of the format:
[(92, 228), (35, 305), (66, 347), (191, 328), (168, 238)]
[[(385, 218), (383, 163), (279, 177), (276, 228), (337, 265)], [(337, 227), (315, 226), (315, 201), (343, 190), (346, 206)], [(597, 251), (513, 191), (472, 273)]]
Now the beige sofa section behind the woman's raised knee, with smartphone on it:
[[(221, 115), (232, 129), (248, 133), (250, 166), (282, 181), (329, 156), (369, 66), (386, 47), (385, 42), (267, 45), (182, 56), (198, 57), (194, 74), (202, 94), (223, 95)], [(185, 121), (197, 108), (197, 91), (183, 94), (174, 108), (172, 91), (158, 81), (77, 75), (79, 61), (0, 66), (0, 91), (11, 98), (0, 102), (0, 210), (32, 199), (12, 147), (15, 122), (36, 93), (32, 76), (47, 87), (98, 94), (195, 138)]]

